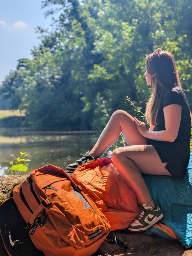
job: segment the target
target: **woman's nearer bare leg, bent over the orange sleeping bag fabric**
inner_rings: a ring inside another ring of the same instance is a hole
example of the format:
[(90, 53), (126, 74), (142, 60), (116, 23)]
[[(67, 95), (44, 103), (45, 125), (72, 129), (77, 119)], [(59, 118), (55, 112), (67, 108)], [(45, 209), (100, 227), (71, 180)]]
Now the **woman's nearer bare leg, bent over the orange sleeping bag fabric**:
[(117, 148), (112, 153), (112, 161), (127, 184), (136, 192), (140, 203), (155, 207), (141, 173), (168, 175), (155, 148), (151, 145), (136, 145)]

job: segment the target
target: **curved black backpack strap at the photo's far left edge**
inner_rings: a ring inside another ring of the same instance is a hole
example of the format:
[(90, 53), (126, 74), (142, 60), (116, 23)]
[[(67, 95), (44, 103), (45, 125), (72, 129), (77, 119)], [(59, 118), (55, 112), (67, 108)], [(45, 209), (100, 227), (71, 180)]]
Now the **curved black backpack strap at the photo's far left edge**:
[(11, 239), (11, 233), (9, 230), (9, 217), (10, 217), (10, 210), (11, 207), (15, 205), (13, 198), (10, 197), (9, 199), (5, 200), (0, 205), (0, 233), (4, 243), (4, 247), (9, 256), (14, 256), (13, 251), (13, 243)]

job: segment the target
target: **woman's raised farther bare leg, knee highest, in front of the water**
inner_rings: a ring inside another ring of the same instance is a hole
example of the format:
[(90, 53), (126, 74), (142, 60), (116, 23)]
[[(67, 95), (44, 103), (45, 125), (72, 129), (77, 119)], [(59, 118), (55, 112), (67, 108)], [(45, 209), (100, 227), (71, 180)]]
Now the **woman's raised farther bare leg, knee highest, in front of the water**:
[(109, 119), (108, 124), (89, 154), (95, 158), (99, 157), (117, 141), (121, 132), (127, 145), (147, 143), (146, 138), (140, 134), (133, 122), (133, 117), (124, 110), (117, 110)]

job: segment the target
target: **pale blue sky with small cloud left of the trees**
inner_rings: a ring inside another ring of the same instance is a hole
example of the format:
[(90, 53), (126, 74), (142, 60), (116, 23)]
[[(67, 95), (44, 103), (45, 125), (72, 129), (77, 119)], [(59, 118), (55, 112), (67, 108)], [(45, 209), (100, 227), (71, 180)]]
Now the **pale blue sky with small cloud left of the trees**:
[(41, 0), (0, 0), (0, 83), (16, 70), (17, 60), (32, 59), (31, 50), (41, 42), (37, 26), (49, 28), (51, 17)]

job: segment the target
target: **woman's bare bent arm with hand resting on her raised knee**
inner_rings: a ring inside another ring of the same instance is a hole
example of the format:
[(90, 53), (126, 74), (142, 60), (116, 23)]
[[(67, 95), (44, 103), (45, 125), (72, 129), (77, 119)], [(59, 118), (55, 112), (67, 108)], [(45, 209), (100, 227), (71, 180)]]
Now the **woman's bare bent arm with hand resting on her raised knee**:
[(181, 106), (178, 104), (171, 104), (164, 107), (164, 118), (165, 118), (165, 130), (162, 131), (151, 131), (147, 129), (145, 123), (140, 122), (136, 118), (134, 119), (135, 124), (139, 132), (148, 139), (154, 139), (159, 141), (170, 141), (173, 142), (178, 135), (180, 120), (181, 120)]

